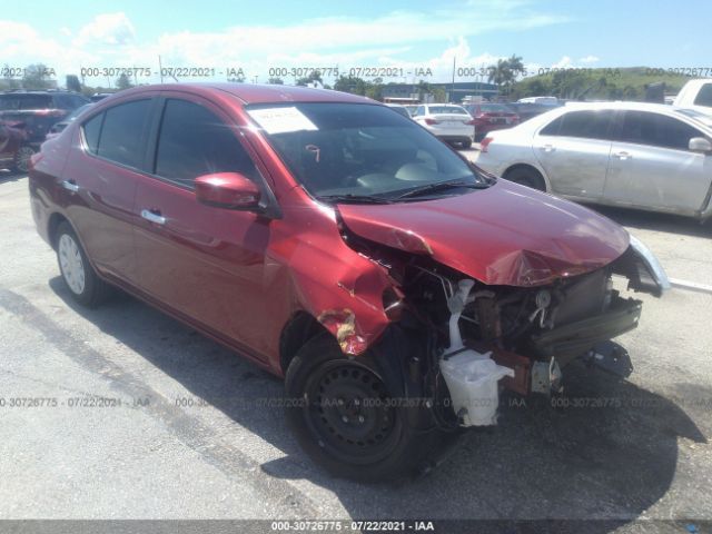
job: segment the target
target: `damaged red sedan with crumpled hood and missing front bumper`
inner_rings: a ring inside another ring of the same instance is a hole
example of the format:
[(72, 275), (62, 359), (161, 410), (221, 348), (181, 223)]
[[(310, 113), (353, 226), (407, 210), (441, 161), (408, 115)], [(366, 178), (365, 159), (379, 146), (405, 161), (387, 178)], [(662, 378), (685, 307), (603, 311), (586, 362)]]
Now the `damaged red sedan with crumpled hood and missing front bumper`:
[(118, 286), (284, 376), (296, 438), (352, 478), (427, 468), (575, 358), (630, 373), (623, 294), (669, 287), (609, 219), (335, 91), (121, 91), (42, 145), (30, 192), (75, 299)]

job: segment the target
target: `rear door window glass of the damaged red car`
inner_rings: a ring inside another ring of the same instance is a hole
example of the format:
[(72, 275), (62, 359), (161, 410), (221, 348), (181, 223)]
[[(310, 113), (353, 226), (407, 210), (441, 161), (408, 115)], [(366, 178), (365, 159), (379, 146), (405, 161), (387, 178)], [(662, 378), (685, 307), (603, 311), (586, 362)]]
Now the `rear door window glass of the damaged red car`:
[(137, 100), (107, 109), (97, 154), (117, 164), (140, 167), (145, 148), (141, 140), (149, 109), (150, 100)]

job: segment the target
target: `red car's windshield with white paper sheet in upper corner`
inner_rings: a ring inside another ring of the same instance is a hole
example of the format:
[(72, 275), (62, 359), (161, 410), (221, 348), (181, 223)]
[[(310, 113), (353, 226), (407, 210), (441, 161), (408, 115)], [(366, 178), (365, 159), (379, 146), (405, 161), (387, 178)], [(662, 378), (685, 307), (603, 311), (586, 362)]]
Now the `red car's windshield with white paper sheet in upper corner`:
[(247, 110), (307, 191), (326, 201), (405, 201), (413, 197), (397, 197), (415, 189), (421, 199), (490, 184), (445, 144), (384, 106), (273, 103)]

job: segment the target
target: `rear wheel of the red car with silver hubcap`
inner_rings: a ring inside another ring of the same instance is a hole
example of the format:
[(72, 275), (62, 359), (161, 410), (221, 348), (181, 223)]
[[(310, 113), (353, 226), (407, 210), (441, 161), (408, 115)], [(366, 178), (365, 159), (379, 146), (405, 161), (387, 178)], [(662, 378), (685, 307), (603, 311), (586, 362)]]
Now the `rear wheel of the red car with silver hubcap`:
[(56, 236), (57, 263), (69, 293), (83, 306), (97, 306), (108, 295), (109, 286), (95, 273), (68, 222), (59, 224)]

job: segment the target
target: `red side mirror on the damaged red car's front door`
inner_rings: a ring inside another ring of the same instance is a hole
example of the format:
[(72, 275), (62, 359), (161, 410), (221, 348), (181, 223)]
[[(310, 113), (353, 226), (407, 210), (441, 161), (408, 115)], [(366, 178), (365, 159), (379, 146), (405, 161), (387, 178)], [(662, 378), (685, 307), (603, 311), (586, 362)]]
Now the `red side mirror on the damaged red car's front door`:
[(217, 172), (196, 178), (196, 198), (217, 208), (254, 210), (259, 208), (257, 185), (239, 172)]

